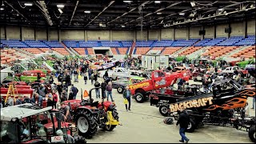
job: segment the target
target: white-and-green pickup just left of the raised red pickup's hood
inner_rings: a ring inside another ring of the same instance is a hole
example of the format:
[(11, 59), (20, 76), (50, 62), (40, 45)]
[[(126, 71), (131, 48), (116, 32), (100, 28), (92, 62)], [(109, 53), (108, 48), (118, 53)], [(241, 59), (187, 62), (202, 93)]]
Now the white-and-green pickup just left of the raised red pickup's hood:
[(141, 77), (132, 77), (129, 79), (118, 79), (117, 81), (112, 81), (112, 86), (114, 89), (118, 90), (119, 94), (122, 94), (123, 90), (125, 90), (126, 86), (129, 86), (131, 84), (142, 82), (145, 78)]

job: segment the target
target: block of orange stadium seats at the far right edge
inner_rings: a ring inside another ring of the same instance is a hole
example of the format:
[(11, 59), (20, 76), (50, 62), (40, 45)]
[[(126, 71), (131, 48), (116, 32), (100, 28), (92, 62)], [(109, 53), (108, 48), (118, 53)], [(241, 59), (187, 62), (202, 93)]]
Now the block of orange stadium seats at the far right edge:
[(255, 58), (255, 46), (249, 46), (238, 53), (232, 54), (233, 58)]

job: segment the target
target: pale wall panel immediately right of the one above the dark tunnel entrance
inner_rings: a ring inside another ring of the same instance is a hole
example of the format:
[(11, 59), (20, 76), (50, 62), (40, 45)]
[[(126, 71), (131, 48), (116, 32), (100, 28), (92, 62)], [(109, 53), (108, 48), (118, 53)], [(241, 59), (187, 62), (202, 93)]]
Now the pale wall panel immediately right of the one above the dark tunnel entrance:
[(134, 31), (132, 30), (112, 30), (113, 41), (134, 40)]

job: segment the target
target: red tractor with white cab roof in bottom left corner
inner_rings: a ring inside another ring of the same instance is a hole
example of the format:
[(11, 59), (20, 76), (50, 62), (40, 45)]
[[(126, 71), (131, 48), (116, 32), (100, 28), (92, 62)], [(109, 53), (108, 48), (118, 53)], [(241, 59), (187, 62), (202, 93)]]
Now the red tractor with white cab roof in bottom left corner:
[[(1, 143), (86, 143), (62, 113), (30, 103), (1, 109)], [(72, 136), (74, 135), (74, 136)]]

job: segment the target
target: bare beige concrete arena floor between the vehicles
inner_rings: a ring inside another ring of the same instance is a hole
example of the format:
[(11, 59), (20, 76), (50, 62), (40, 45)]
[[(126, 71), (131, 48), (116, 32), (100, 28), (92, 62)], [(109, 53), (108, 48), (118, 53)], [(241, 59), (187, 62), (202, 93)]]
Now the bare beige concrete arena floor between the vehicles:
[[(101, 82), (101, 78), (100, 78)], [(83, 78), (79, 78), (77, 99), (81, 98), (82, 90), (89, 91), (94, 86), (87, 81), (84, 84)], [(92, 94), (96, 100), (95, 93)], [(131, 101), (131, 111), (126, 111), (123, 104), (122, 94), (113, 90), (113, 98), (117, 105), (119, 121), (122, 126), (117, 126), (111, 132), (104, 132), (98, 129), (94, 138), (88, 139), (88, 143), (178, 143), (181, 139), (178, 134), (178, 126), (166, 125), (162, 121), (164, 117), (159, 113), (158, 108), (150, 106), (150, 102), (137, 103), (134, 99)], [(99, 100), (99, 99), (98, 99)], [(252, 105), (252, 98), (249, 98), (249, 104)], [(255, 110), (250, 109), (250, 115), (255, 115)], [(222, 126), (203, 126), (195, 130), (194, 133), (186, 133), (190, 138), (190, 143), (247, 143), (251, 142), (248, 133), (234, 128)]]

